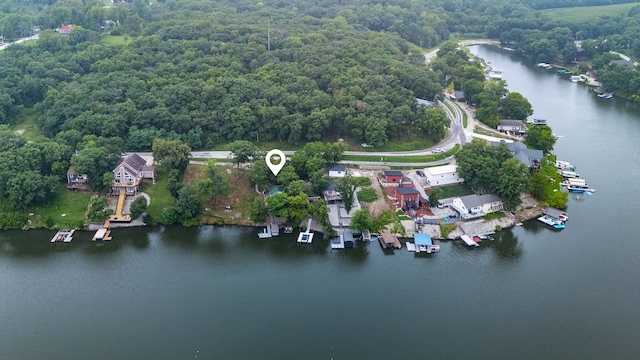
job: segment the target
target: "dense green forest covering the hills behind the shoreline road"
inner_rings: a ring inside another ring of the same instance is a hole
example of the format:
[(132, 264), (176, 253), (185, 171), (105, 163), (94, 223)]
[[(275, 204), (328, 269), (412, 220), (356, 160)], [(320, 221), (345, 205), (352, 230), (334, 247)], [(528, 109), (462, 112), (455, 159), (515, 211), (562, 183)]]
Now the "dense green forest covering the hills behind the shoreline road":
[[(0, 52), (0, 124), (29, 119), (41, 138), (0, 128), (0, 192), (20, 207), (46, 202), (75, 151), (85, 166), (104, 159), (108, 168), (158, 138), (191, 149), (237, 140), (435, 143), (446, 119), (416, 98), (433, 100), (451, 82), (475, 94), (486, 123), (526, 117), (518, 94), (485, 86), (455, 46), (424, 65), (424, 48), (453, 38), (499, 39), (532, 61), (589, 60), (605, 88), (640, 94), (637, 70), (611, 65), (608, 53), (640, 54), (640, 8), (569, 24), (536, 12), (548, 4), (2, 0), (4, 40), (36, 32), (39, 40)], [(73, 29), (56, 31), (62, 25)]]

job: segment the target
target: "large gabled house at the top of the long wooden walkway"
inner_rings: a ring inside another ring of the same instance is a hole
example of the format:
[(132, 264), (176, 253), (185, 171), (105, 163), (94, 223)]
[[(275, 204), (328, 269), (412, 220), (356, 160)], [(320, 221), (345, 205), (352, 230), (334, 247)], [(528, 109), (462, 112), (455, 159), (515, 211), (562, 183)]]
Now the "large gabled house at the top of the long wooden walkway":
[(113, 192), (124, 189), (127, 195), (135, 195), (143, 181), (155, 182), (155, 168), (147, 165), (147, 161), (138, 154), (131, 154), (113, 169), (114, 180), (111, 184)]

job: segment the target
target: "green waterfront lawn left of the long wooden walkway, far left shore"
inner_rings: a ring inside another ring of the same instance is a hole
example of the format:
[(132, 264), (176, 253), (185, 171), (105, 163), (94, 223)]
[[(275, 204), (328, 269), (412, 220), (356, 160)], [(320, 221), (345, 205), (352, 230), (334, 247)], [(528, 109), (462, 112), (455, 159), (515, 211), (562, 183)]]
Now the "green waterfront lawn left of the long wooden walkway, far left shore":
[(85, 213), (91, 196), (88, 192), (67, 190), (64, 184), (60, 184), (55, 198), (49, 204), (30, 208), (25, 212), (34, 214), (30, 216), (34, 227), (49, 227), (46, 225), (53, 224), (58, 229), (84, 228)]

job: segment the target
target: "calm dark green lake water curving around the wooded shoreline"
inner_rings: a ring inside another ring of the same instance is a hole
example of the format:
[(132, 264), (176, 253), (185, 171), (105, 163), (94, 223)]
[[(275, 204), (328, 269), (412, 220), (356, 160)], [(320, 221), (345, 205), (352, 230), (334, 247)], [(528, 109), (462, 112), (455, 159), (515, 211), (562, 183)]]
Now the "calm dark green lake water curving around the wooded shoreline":
[(0, 232), (0, 359), (637, 359), (640, 108), (472, 47), (561, 136), (597, 192), (537, 221), (416, 257), (331, 251), (257, 229)]

